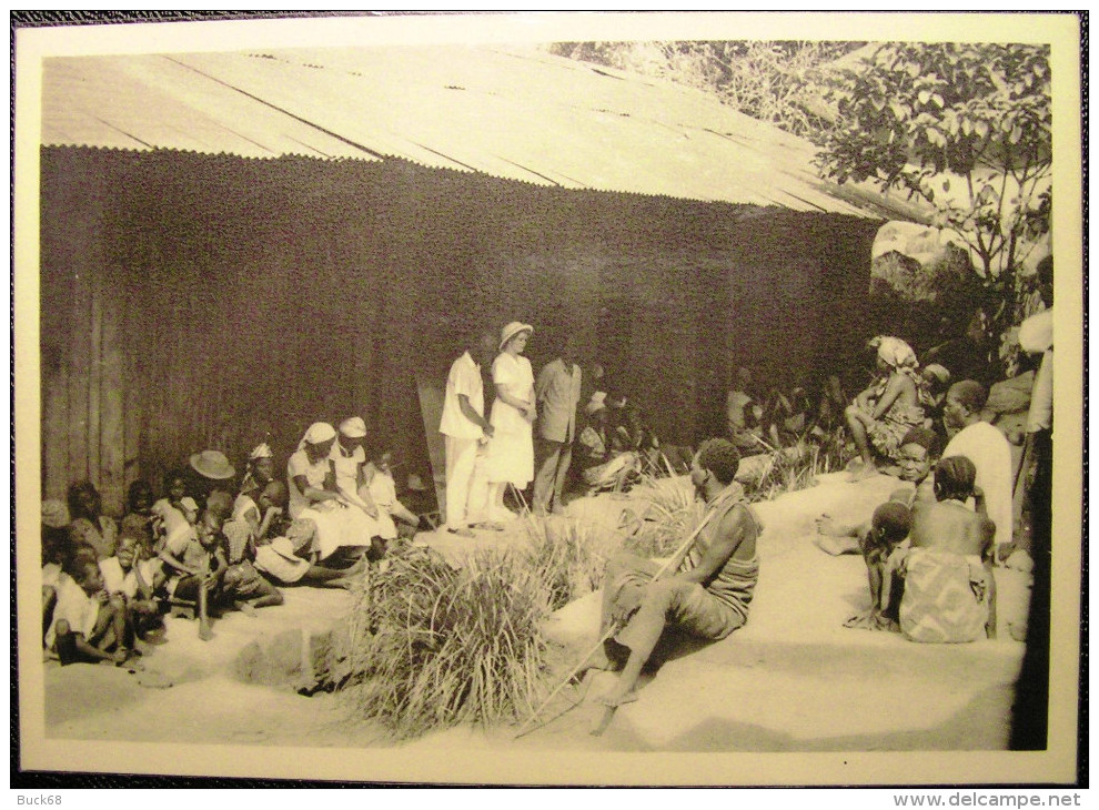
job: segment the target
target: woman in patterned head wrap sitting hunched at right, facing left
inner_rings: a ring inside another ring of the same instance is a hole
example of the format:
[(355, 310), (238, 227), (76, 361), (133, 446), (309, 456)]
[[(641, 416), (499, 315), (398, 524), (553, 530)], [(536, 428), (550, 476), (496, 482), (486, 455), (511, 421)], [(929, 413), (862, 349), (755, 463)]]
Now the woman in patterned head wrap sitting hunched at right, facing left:
[(869, 343), (877, 350), (879, 375), (855, 397), (845, 415), (863, 466), (851, 480), (877, 473), (875, 453), (896, 463), (900, 442), (913, 427), (924, 424), (927, 387), (911, 346), (898, 337), (879, 336)]

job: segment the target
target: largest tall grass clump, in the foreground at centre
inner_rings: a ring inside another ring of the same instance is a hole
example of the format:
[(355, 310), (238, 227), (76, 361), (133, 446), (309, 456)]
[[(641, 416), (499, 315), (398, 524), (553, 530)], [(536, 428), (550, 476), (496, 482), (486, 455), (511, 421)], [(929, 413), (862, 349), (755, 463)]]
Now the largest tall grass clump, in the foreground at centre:
[(547, 667), (546, 603), (516, 555), (485, 549), (454, 568), (407, 548), (354, 597), (344, 691), (360, 717), (409, 739), (533, 710)]

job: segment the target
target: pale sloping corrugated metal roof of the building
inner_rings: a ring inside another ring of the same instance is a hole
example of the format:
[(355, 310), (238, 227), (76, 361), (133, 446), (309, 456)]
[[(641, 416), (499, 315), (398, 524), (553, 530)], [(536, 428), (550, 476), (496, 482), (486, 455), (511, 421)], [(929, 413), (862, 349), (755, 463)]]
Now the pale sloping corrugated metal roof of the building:
[(43, 143), (401, 158), (568, 189), (920, 219), (814, 146), (671, 83), (540, 51), (355, 48), (47, 60)]

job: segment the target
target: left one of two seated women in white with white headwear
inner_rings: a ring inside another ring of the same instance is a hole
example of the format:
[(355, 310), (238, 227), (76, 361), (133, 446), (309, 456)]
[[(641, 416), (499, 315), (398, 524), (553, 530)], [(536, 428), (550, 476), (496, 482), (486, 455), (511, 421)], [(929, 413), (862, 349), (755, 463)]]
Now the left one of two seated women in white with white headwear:
[(336, 470), (331, 458), (335, 438), (332, 425), (313, 423), (286, 465), (290, 517), (294, 520), (307, 518), (316, 525), (312, 550), (319, 560), (329, 558), (337, 548), (371, 546), (376, 526), (336, 487)]

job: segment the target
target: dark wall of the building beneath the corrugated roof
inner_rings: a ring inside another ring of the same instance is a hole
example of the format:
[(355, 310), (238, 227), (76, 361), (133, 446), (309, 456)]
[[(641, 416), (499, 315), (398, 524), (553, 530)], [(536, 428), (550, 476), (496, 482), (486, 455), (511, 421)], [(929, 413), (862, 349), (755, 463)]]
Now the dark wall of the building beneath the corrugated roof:
[(535, 368), (577, 334), (693, 441), (730, 363), (835, 362), (878, 226), (392, 161), (47, 149), (42, 192), (43, 492), (87, 477), (110, 512), (193, 452), (240, 468), (270, 433), (284, 460), (351, 414), (430, 479), (415, 381), (473, 322), (534, 323)]

